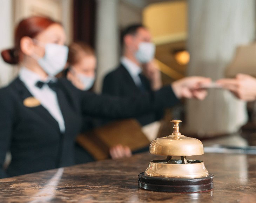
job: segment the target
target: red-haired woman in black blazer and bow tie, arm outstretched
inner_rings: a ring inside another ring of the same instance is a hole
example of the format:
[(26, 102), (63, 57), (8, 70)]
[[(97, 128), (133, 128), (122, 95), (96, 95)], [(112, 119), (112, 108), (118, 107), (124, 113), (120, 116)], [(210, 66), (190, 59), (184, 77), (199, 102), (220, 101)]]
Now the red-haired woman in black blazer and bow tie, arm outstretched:
[(27, 18), (19, 23), (14, 37), (14, 48), (2, 51), (7, 63), (19, 64), (21, 69), (11, 84), (0, 89), (0, 165), (6, 152), (12, 154), (8, 168), (0, 170), (1, 177), (72, 165), (74, 138), (84, 115), (135, 117), (172, 106), (177, 97), (205, 96), (205, 92), (190, 91), (207, 81), (201, 77), (183, 79), (136, 98), (81, 91), (67, 79), (54, 77), (65, 66), (68, 54), (60, 23)]

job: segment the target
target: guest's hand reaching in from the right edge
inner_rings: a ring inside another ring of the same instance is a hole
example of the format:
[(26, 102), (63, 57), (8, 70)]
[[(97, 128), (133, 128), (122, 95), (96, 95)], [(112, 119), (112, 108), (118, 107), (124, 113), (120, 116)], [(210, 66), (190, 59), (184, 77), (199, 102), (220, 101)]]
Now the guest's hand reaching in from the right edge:
[(256, 78), (250, 75), (239, 73), (235, 79), (220, 79), (217, 83), (234, 93), (239, 99), (245, 101), (256, 99)]

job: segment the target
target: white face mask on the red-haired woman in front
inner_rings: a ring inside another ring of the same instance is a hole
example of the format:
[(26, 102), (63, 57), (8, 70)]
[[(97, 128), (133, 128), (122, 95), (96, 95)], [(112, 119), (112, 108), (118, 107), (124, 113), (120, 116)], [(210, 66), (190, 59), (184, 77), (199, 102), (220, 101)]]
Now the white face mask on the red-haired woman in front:
[[(38, 40), (35, 40), (35, 42), (38, 43)], [(32, 57), (37, 60), (49, 76), (55, 76), (64, 69), (67, 63), (68, 47), (54, 43), (45, 43), (44, 46), (40, 47), (45, 48), (45, 55), (40, 58), (34, 54)]]

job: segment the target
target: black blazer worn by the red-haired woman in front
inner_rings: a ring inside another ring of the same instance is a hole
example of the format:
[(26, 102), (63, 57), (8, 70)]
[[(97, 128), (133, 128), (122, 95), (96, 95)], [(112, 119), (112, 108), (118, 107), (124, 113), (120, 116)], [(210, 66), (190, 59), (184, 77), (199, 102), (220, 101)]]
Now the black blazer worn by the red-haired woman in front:
[(9, 167), (0, 176), (15, 176), (74, 164), (74, 139), (84, 116), (134, 117), (151, 109), (172, 106), (178, 99), (170, 86), (136, 97), (100, 96), (76, 89), (67, 79), (57, 82), (57, 96), (65, 121), (62, 134), (58, 122), (42, 106), (27, 107), (32, 94), (19, 78), (0, 89), (0, 164), (12, 154)]

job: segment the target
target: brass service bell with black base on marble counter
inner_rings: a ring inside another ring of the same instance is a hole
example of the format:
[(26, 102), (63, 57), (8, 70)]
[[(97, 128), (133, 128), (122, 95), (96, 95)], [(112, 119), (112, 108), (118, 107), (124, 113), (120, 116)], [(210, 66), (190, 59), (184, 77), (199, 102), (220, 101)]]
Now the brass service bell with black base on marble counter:
[[(152, 160), (144, 173), (139, 174), (139, 187), (153, 191), (197, 192), (213, 189), (213, 175), (209, 174), (203, 161), (188, 160), (187, 156), (202, 155), (203, 144), (179, 132), (181, 120), (172, 120), (171, 135), (154, 139), (149, 153), (167, 155), (165, 160)], [(181, 159), (172, 159), (180, 156)]]

